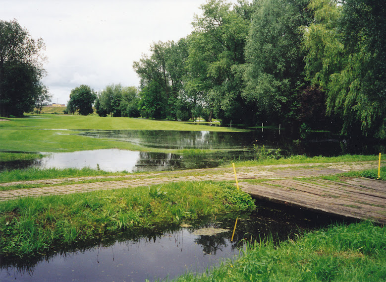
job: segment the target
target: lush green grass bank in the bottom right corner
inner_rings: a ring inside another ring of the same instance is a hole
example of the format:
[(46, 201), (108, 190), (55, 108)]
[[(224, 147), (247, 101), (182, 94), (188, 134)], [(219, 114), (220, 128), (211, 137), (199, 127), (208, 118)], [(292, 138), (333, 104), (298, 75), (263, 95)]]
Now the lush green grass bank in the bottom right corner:
[(361, 222), (310, 232), (279, 246), (260, 241), (203, 275), (187, 274), (174, 281), (386, 281), (386, 231)]

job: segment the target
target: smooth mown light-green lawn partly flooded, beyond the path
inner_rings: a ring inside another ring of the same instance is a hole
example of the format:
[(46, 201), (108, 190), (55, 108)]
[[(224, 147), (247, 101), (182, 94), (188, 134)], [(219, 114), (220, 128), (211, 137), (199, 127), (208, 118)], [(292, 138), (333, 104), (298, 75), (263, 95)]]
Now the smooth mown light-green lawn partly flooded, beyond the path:
[(108, 148), (158, 151), (157, 149), (144, 148), (129, 142), (69, 135), (73, 133), (71, 130), (241, 131), (225, 127), (142, 118), (31, 115), (25, 118), (8, 118), (0, 122), (0, 149), (30, 152), (68, 152)]

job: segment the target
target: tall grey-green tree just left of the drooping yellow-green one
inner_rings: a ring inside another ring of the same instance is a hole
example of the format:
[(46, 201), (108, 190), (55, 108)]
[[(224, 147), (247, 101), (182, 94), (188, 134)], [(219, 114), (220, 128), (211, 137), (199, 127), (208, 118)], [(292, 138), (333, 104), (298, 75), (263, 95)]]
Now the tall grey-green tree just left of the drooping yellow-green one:
[(263, 120), (296, 119), (297, 94), (305, 87), (300, 27), (311, 14), (308, 0), (260, 0), (256, 4), (248, 43), (243, 97), (258, 107)]

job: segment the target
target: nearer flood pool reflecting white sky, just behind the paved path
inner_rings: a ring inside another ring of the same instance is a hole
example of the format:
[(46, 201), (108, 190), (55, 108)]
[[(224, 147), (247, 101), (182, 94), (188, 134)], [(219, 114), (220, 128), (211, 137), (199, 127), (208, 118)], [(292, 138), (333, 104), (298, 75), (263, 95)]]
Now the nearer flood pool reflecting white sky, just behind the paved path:
[(23, 168), (83, 168), (90, 167), (105, 171), (163, 171), (193, 168), (217, 167), (229, 160), (248, 160), (253, 157), (250, 151), (219, 151), (209, 154), (183, 155), (175, 153), (156, 153), (128, 151), (120, 149), (101, 149), (68, 153), (51, 153), (43, 158), (23, 161), (0, 162), (0, 171)]

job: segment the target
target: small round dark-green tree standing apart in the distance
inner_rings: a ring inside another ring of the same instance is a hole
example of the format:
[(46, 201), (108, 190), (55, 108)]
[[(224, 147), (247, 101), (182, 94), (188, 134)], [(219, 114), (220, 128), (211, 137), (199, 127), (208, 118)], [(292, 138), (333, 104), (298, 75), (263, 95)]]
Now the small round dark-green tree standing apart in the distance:
[[(79, 111), (82, 116), (87, 116), (94, 112), (93, 103), (97, 98), (97, 94), (88, 85), (80, 85), (71, 90), (70, 100), (67, 104), (68, 112), (75, 110)], [(70, 106), (70, 108), (68, 108)], [(70, 111), (71, 109), (71, 111)]]

